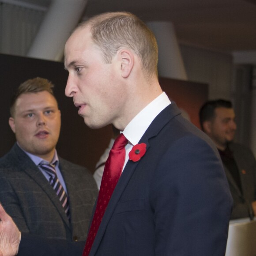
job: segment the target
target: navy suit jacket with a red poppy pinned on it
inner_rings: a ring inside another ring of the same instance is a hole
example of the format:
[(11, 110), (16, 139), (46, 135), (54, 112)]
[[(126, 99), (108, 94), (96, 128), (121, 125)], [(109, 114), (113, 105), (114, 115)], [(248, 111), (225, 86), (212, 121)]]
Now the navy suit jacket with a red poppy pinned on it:
[(232, 197), (211, 140), (172, 103), (142, 142), (147, 152), (125, 166), (90, 256), (224, 256)]

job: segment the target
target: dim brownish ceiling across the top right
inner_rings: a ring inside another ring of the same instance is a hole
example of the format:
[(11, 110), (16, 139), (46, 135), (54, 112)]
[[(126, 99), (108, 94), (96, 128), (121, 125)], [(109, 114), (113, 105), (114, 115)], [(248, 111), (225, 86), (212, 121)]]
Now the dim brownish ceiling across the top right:
[[(45, 7), (51, 2), (21, 1)], [(84, 15), (105, 11), (131, 11), (144, 22), (171, 21), (181, 43), (225, 52), (256, 50), (256, 0), (88, 0)]]

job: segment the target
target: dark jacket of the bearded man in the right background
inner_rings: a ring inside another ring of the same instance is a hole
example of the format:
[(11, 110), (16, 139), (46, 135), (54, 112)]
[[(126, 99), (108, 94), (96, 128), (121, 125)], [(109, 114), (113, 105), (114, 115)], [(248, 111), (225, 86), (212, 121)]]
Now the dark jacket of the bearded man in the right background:
[(231, 219), (253, 217), (252, 201), (256, 200), (256, 160), (252, 151), (238, 143), (231, 143), (230, 150), (239, 170), (241, 190), (237, 187), (230, 171), (224, 165), (234, 205)]

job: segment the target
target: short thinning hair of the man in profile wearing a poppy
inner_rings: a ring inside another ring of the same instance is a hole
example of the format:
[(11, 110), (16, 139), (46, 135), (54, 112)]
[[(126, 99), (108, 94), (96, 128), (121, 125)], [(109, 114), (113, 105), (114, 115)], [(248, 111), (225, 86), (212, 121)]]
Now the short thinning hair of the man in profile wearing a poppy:
[(90, 26), (92, 40), (102, 51), (105, 63), (122, 47), (128, 47), (142, 62), (147, 75), (157, 75), (158, 46), (153, 32), (136, 15), (130, 12), (107, 12), (80, 23)]

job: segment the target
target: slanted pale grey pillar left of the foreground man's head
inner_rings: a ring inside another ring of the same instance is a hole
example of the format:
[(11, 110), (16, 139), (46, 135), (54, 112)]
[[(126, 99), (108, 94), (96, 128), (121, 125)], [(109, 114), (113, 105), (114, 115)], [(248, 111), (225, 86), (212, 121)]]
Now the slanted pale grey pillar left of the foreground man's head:
[(79, 22), (87, 0), (53, 0), (27, 56), (60, 61), (64, 45)]

